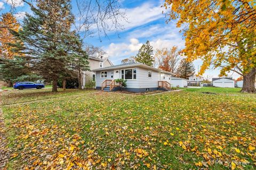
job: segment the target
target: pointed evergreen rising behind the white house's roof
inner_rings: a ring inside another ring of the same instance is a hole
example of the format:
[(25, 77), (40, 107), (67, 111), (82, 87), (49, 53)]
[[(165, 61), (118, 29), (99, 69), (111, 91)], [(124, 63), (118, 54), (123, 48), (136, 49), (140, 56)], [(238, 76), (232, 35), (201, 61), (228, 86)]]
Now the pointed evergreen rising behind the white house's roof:
[(139, 49), (139, 53), (135, 57), (135, 61), (149, 66), (153, 66), (155, 61), (153, 56), (153, 47), (150, 46), (149, 41), (141, 46), (141, 48)]

